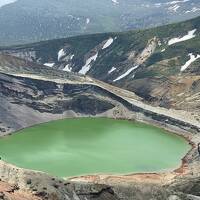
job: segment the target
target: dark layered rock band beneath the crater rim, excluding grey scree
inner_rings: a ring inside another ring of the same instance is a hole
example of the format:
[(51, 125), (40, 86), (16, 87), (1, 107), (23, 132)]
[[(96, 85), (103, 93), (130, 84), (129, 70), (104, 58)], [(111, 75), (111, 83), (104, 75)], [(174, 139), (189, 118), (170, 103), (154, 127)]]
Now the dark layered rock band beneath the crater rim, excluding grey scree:
[(12, 98), (13, 104), (26, 105), (42, 113), (62, 114), (74, 110), (82, 114), (97, 114), (114, 107), (112, 103), (98, 98), (98, 88), (92, 85), (60, 85), (27, 78), (14, 80), (4, 75), (1, 77), (0, 93)]

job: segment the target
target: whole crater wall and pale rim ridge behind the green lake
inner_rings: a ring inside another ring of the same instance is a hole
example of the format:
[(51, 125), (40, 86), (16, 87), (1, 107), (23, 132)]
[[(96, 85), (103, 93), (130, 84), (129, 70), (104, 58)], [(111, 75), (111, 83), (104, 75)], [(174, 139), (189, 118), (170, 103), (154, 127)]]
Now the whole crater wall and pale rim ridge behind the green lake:
[(0, 92), (3, 134), (76, 116), (144, 118), (185, 130), (200, 128), (193, 112), (151, 106), (128, 90), (10, 55), (0, 55)]

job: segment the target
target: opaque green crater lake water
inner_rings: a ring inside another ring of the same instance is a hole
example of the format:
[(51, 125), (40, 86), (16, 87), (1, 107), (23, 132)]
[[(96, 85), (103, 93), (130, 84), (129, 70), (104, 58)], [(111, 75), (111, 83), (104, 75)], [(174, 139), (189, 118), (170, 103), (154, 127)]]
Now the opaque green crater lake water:
[(59, 177), (170, 170), (190, 148), (154, 126), (106, 118), (59, 120), (0, 139), (3, 160)]

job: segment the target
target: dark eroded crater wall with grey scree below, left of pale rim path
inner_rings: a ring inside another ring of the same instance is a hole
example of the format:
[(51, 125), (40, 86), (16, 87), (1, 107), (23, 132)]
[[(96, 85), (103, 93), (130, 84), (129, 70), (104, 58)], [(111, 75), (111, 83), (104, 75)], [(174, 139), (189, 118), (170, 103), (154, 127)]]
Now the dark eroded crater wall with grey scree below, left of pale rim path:
[(94, 85), (57, 84), (5, 74), (0, 74), (0, 99), (2, 134), (62, 117), (95, 116), (119, 104)]

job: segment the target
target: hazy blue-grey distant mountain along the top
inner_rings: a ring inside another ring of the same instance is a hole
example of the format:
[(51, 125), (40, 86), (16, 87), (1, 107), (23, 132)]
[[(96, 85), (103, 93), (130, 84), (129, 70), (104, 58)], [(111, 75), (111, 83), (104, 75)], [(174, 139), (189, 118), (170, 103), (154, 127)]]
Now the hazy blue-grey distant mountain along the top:
[(155, 27), (198, 16), (198, 0), (18, 0), (0, 8), (0, 44)]

